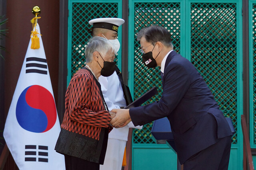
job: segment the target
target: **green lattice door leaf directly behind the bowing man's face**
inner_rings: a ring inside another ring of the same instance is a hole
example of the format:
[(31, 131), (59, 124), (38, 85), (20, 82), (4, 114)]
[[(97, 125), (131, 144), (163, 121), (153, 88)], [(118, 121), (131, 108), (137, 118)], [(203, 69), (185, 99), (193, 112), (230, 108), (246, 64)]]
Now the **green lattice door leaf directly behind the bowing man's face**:
[[(175, 50), (185, 56), (185, 3), (182, 1), (129, 1), (129, 40), (128, 44), (134, 44), (129, 49), (129, 78), (128, 84), (133, 89), (134, 98), (152, 88), (158, 87), (160, 93), (151, 103), (160, 99), (162, 94), (162, 80), (159, 69), (148, 69), (144, 66), (140, 54), (140, 44), (136, 41), (136, 35), (141, 28), (149, 25), (162, 25), (170, 31)], [(132, 78), (134, 80), (132, 80)], [(156, 144), (151, 137), (152, 123), (143, 126), (142, 130), (133, 131), (132, 143), (132, 169), (155, 170), (177, 167), (177, 156), (165, 144)]]

